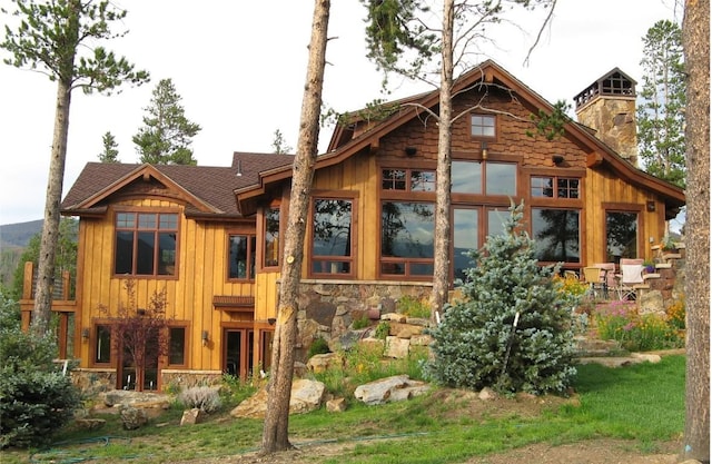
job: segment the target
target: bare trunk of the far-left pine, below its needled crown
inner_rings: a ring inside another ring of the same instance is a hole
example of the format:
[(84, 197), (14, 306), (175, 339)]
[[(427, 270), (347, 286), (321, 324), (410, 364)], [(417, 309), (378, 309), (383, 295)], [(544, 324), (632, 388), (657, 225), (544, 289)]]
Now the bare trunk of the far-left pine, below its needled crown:
[(55, 284), (55, 256), (59, 240), (59, 205), (62, 199), (65, 181), (65, 161), (67, 159), (67, 137), (69, 132), (69, 105), (71, 87), (57, 82), (57, 108), (55, 110), (55, 132), (52, 152), (47, 179), (47, 197), (44, 199), (44, 223), (37, 268), (37, 292), (32, 312), (31, 329), (36, 335), (44, 335), (49, 330), (49, 318), (52, 309), (52, 287)]

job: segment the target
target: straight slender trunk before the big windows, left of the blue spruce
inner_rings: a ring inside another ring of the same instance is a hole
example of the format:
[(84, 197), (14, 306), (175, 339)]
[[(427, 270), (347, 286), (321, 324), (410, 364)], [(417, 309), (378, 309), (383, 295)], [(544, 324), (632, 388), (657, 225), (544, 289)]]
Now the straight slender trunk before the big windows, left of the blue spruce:
[(443, 67), (441, 69), (439, 120), (437, 137), (437, 184), (435, 200), (435, 246), (433, 263), (433, 317), (443, 312), (449, 289), (449, 206), (452, 170), (452, 113), (453, 113), (453, 33), (454, 4), (445, 0), (443, 6)]

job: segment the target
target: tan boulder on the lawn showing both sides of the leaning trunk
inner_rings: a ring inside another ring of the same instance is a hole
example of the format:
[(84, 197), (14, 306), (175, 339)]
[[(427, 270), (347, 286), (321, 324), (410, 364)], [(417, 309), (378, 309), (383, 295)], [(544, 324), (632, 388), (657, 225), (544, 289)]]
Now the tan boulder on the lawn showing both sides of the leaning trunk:
[[(322, 407), (326, 386), (322, 382), (308, 378), (296, 379), (291, 384), (289, 398), (289, 414), (305, 414)], [(260, 388), (255, 395), (237, 405), (231, 412), (233, 417), (264, 418), (267, 412), (267, 387)]]

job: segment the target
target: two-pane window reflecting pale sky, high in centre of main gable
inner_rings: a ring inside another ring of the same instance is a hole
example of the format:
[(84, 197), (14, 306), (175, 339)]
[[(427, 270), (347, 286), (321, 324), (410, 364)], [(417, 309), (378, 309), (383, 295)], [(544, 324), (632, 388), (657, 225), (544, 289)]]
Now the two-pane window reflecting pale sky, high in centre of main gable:
[(516, 195), (516, 164), (495, 161), (453, 161), (454, 194)]

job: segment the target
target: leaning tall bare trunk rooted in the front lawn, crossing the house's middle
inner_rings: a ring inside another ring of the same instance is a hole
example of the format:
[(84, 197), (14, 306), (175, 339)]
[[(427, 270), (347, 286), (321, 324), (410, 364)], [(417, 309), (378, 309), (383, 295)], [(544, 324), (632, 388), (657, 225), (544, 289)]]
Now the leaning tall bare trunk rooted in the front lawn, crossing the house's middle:
[(304, 237), (308, 223), (312, 179), (318, 149), (329, 8), (329, 0), (315, 1), (309, 63), (301, 103), (299, 139), (293, 167), (291, 197), (285, 231), (279, 307), (273, 344), (267, 413), (263, 431), (263, 453), (285, 451), (291, 446), (288, 437), (288, 423), (294, 374), (294, 345), (297, 335), (297, 294), (301, 278)]

